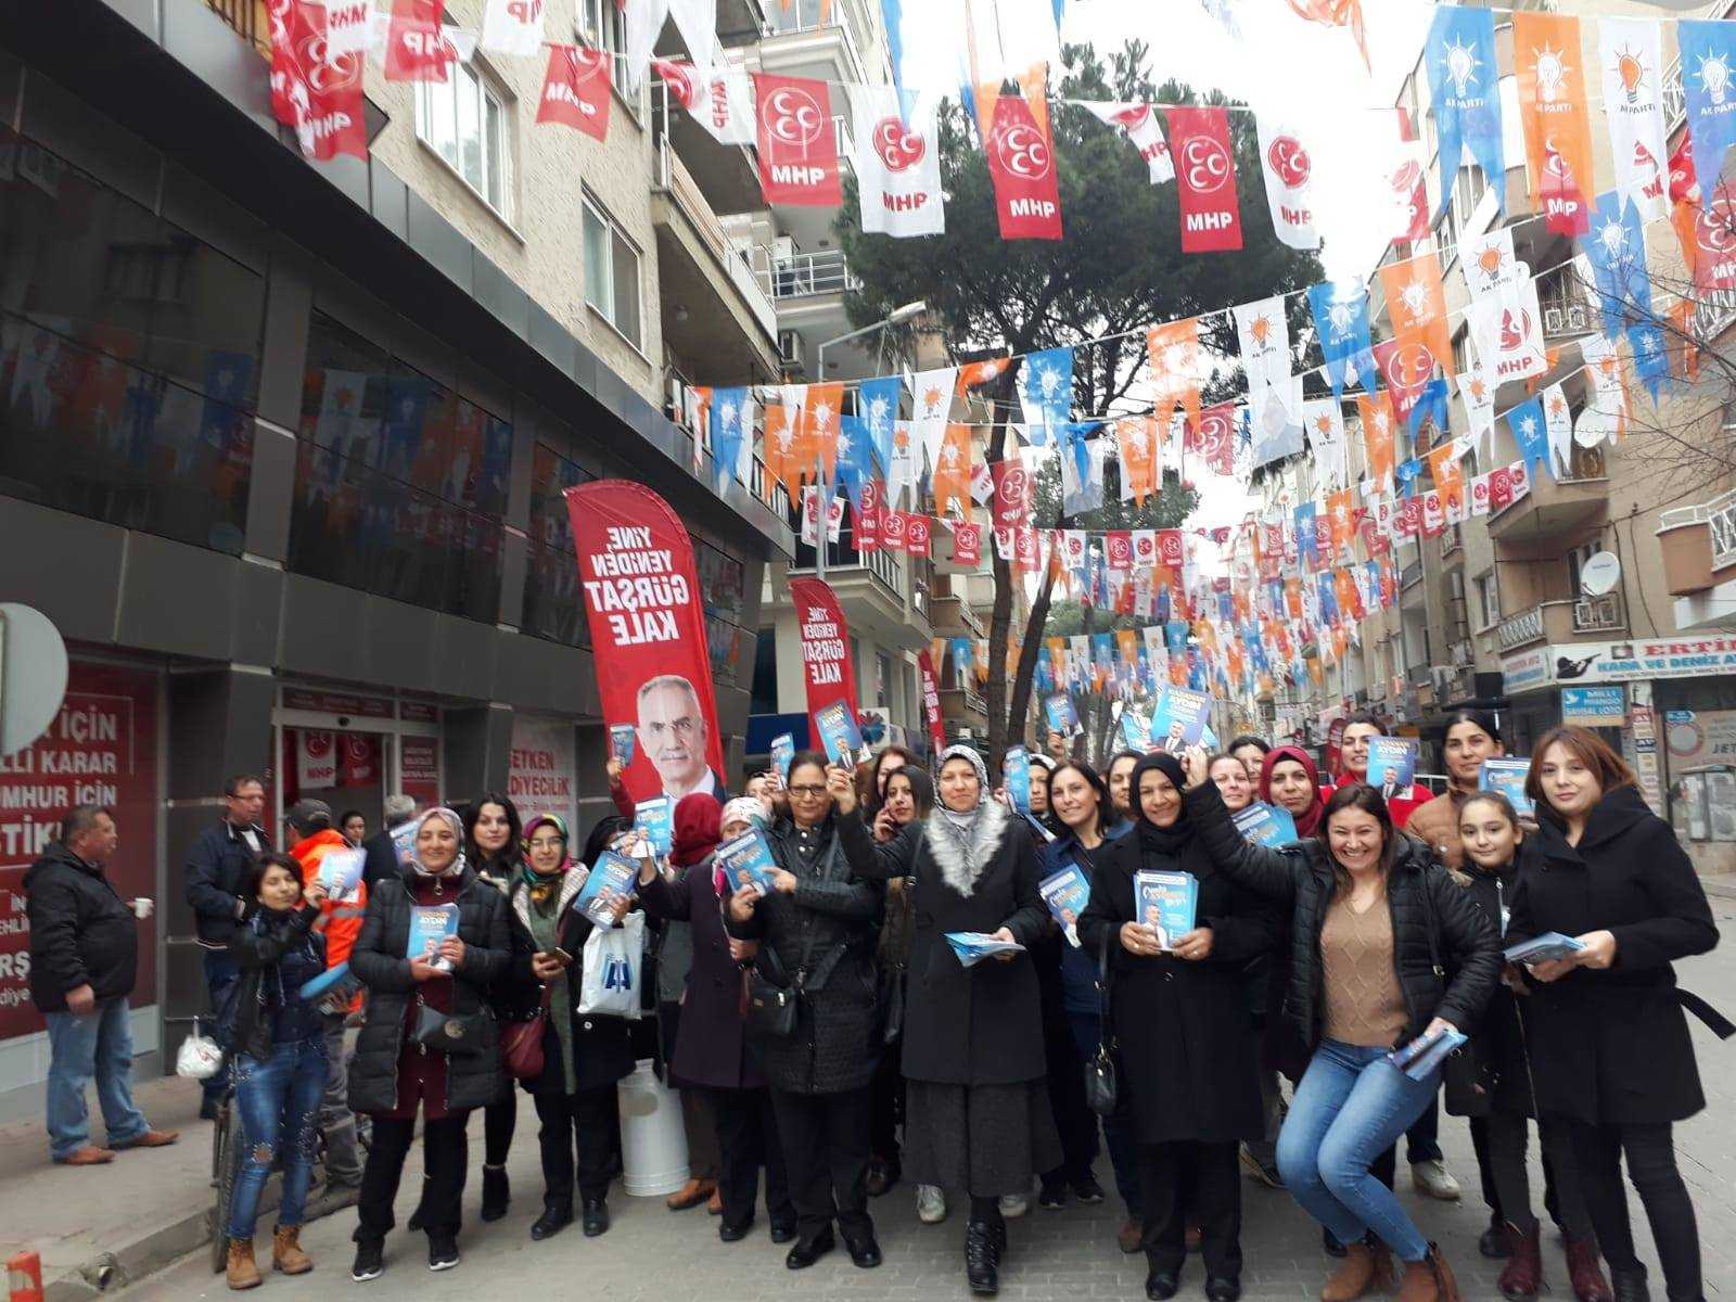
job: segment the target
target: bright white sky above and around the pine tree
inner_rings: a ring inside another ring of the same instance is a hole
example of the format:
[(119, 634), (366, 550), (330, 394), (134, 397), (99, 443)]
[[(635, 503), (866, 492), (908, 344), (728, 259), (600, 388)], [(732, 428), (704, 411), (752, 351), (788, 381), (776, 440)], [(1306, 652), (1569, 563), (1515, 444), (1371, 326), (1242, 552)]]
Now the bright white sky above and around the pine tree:
[[(944, 5), (962, 31), (962, 0), (904, 0), (903, 76), (908, 87), (957, 89), (960, 36), (946, 36)], [(990, 0), (972, 0), (981, 7)], [(1043, 40), (1049, 0), (993, 0), (1009, 61)], [(1311, 200), (1321, 233), (1321, 260), (1332, 278), (1366, 276), (1392, 231), (1385, 175), (1397, 144), (1392, 104), (1427, 35), (1432, 5), (1418, 0), (1363, 0), (1373, 73), (1363, 66), (1349, 30), (1304, 21), (1286, 0), (1229, 0), (1243, 40), (1233, 40), (1200, 0), (1069, 0), (1064, 42), (1090, 42), (1099, 54), (1130, 38), (1149, 49), (1149, 71), (1219, 89), (1260, 115), (1285, 123), (1309, 151)], [(941, 33), (937, 36), (937, 28)], [(1128, 151), (1128, 167), (1139, 167)], [(1262, 181), (1238, 177), (1243, 205), (1266, 201)], [(1064, 219), (1064, 214), (1062, 214)], [(1179, 240), (1175, 231), (1156, 238)], [(1234, 524), (1257, 498), (1234, 479), (1201, 474), (1196, 528)]]

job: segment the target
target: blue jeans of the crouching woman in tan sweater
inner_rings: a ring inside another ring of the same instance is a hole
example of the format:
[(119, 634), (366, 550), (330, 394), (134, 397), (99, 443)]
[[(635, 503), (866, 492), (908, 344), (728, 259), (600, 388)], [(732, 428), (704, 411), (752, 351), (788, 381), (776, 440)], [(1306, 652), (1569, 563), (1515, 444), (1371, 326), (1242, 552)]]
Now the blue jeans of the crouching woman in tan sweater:
[(1420, 1262), (1429, 1240), (1368, 1167), (1429, 1106), (1441, 1075), (1417, 1082), (1385, 1057), (1385, 1049), (1321, 1040), (1278, 1132), (1278, 1170), (1338, 1243), (1373, 1231), (1403, 1260)]

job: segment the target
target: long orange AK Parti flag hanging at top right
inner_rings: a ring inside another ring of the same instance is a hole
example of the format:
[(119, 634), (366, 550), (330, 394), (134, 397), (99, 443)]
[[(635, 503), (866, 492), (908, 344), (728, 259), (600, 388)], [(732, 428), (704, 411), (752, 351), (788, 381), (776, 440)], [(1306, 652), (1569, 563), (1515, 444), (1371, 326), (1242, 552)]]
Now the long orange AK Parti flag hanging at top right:
[(1585, 108), (1585, 52), (1571, 14), (1514, 16), (1514, 68), (1531, 194), (1555, 234), (1588, 229), (1592, 123)]

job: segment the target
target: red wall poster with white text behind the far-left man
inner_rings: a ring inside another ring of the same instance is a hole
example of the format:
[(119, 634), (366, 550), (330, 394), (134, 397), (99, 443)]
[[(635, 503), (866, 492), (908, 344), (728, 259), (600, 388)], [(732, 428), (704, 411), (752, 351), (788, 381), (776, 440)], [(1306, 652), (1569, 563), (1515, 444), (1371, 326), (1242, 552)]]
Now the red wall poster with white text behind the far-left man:
[[(54, 838), (75, 804), (102, 804), (115, 814), (120, 842), (108, 878), (123, 899), (156, 899), (158, 677), (142, 670), (73, 661), (66, 700), (49, 731), (14, 755), (0, 757), (0, 1040), (43, 1028), (30, 1002), (30, 929), (24, 870)], [(139, 977), (128, 998), (156, 1002), (153, 927), (139, 924)]]

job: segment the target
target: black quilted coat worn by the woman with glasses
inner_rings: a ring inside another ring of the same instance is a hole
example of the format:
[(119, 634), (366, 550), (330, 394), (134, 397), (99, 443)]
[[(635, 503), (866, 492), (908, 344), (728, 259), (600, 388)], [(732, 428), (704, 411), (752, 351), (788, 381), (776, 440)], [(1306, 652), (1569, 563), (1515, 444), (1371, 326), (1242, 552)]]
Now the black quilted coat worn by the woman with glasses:
[(799, 885), (793, 894), (760, 899), (750, 922), (729, 917), (727, 929), (738, 939), (764, 941), (792, 981), (804, 965), (809, 972), (795, 1035), (750, 1038), (766, 1083), (790, 1094), (840, 1094), (866, 1085), (878, 1062), (873, 948), (880, 889), (851, 878), (832, 819), (811, 835), (821, 840), (807, 863), (795, 825), (779, 819), (766, 833), (778, 866)]

